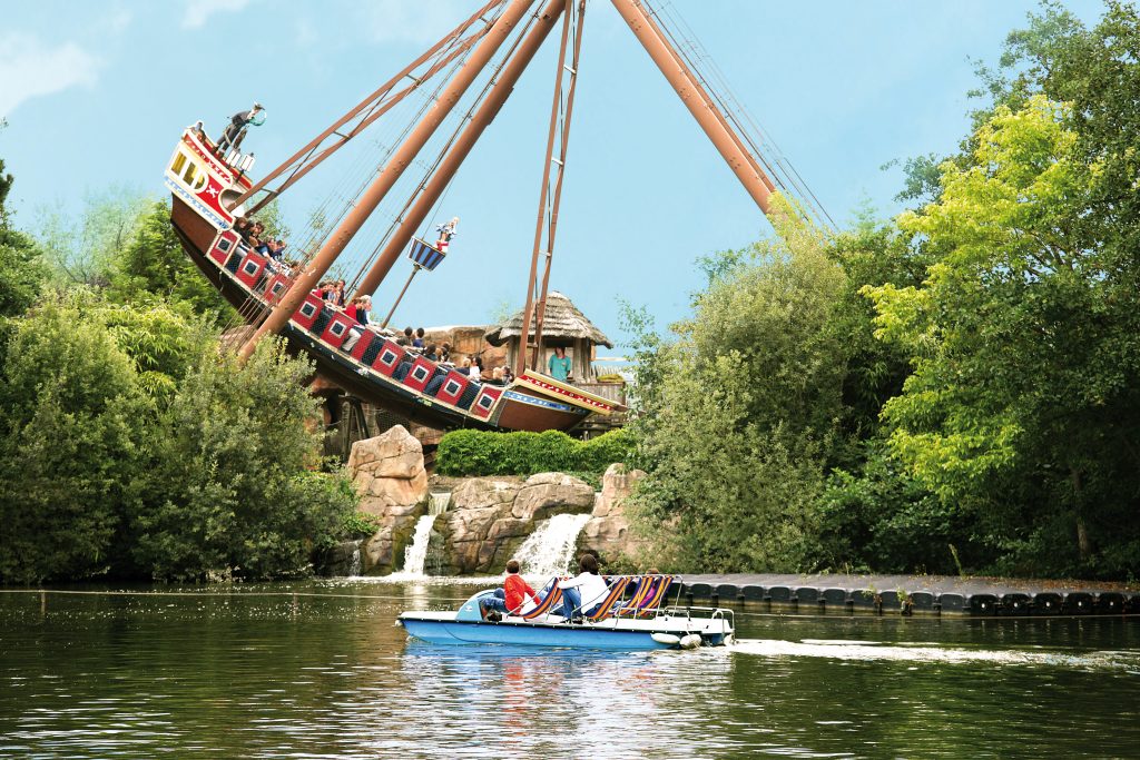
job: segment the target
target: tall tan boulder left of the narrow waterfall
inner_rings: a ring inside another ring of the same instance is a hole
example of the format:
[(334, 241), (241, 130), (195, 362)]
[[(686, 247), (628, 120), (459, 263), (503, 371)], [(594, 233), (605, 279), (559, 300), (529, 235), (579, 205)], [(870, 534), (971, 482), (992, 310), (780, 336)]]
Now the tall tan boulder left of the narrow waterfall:
[(423, 447), (402, 425), (396, 425), (352, 444), (349, 474), (360, 495), (360, 510), (381, 523), (361, 547), (363, 571), (390, 570), (412, 540), (416, 518), (427, 510)]

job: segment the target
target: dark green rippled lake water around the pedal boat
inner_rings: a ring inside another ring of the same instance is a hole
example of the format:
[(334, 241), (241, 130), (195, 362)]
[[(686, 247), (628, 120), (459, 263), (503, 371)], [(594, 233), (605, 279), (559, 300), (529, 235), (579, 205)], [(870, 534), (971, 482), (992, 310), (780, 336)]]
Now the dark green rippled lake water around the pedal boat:
[(617, 654), (393, 626), (473, 588), (0, 591), (0, 755), (1140, 755), (1140, 620), (746, 607), (734, 647)]

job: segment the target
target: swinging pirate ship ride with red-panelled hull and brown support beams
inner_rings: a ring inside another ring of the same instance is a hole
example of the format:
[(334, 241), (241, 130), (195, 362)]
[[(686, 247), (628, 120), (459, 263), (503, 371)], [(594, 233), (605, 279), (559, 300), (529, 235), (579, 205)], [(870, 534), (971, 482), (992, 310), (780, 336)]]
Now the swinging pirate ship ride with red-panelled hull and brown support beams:
[[(707, 71), (702, 49), (681, 38), (676, 19), (645, 0), (612, 2), (765, 213), (771, 213), (775, 191), (806, 190), (783, 160), (762, 156), (755, 122), (731, 95), (714, 88), (718, 72)], [(311, 357), (321, 374), (348, 392), (435, 427), (571, 430), (589, 415), (610, 415), (620, 409), (614, 401), (539, 371), (587, 2), (547, 0), (538, 9), (536, 5), (536, 0), (487, 2), (260, 180), (250, 177), (252, 154), (242, 154), (229, 140), (225, 141), (227, 147), (220, 147), (201, 122), (182, 133), (165, 172), (172, 197), (171, 222), (186, 253), (250, 326), (252, 334), (239, 349), (242, 356), (250, 356), (266, 335), (283, 335), (291, 349)], [(560, 21), (561, 47), (544, 156), (547, 161), (523, 308), (521, 345), (526, 349), (518, 352), (514, 378), (506, 385), (495, 385), (400, 345), (384, 329), (386, 320), (382, 326), (361, 329), (349, 313), (329, 305), (314, 291), (417, 158), (415, 165), (426, 165), (426, 172), (415, 182), (351, 285), (357, 295), (370, 295), (408, 251), (413, 269), (404, 287), (407, 291), (416, 272), (431, 270), (443, 260), (449, 235), (432, 244), (417, 237), (416, 231), (429, 220), (459, 165)], [(475, 88), (466, 112), (456, 112), (480, 79), (481, 88)], [(300, 260), (283, 267), (247, 245), (235, 229), (239, 218), (256, 214), (401, 103), (417, 92), (423, 96), (424, 90), (431, 90), (425, 105), (400, 133), (400, 140), (385, 152), (370, 180), (339, 214), (333, 214), (333, 223), (321, 226), (319, 237), (304, 248)], [(445, 132), (437, 140), (440, 144), (434, 146), (434, 155), (424, 160), (422, 154), (429, 153), (425, 146), (453, 112), (462, 114), (458, 125), (449, 134)], [(811, 198), (809, 191), (806, 197)], [(797, 213), (806, 213), (809, 206), (797, 206)], [(331, 232), (325, 234), (329, 227)]]

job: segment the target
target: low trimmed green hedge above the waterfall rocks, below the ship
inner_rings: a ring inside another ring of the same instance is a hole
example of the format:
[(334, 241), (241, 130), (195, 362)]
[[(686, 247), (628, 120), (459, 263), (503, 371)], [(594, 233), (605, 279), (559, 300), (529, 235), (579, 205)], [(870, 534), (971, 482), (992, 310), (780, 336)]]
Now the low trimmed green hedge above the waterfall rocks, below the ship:
[(633, 448), (633, 435), (621, 430), (589, 441), (578, 441), (561, 431), (453, 431), (439, 443), (438, 468), (442, 475), (597, 474), (616, 461), (628, 459)]

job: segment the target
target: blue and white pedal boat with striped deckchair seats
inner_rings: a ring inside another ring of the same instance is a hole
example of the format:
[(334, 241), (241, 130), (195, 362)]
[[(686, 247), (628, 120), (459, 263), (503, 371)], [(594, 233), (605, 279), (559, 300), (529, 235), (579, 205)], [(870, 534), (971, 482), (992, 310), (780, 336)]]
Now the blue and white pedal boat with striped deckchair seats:
[[(671, 578), (661, 577), (658, 602)], [(625, 582), (617, 586), (625, 587)], [(611, 579), (611, 583), (613, 580)], [(644, 588), (644, 587), (643, 587)], [(522, 646), (578, 647), (612, 651), (648, 651), (723, 646), (735, 631), (733, 612), (718, 607), (648, 607), (620, 600), (603, 605), (593, 619), (571, 622), (555, 608), (555, 589), (526, 615), (507, 615), (502, 621), (483, 620), (480, 599), (492, 590), (479, 591), (458, 611), (404, 612), (397, 619), (409, 636), (432, 644), (510, 644)], [(614, 589), (620, 597), (620, 589)]]

